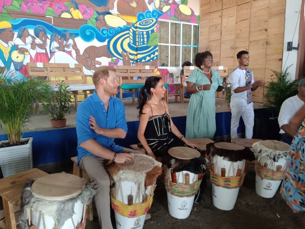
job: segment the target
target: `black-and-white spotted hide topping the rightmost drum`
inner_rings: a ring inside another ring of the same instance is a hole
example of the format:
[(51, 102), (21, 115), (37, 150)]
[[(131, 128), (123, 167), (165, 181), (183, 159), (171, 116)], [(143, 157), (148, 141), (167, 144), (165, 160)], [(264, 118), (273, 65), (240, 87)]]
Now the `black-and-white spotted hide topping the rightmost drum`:
[(253, 151), (257, 161), (262, 157), (268, 157), (275, 162), (279, 159), (288, 159), (290, 146), (284, 142), (276, 140), (264, 140), (253, 143)]

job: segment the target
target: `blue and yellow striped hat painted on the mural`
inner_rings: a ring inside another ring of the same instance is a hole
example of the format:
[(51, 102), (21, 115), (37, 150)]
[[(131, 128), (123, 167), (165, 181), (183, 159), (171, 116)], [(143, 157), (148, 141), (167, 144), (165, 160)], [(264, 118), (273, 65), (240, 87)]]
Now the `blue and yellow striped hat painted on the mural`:
[(122, 51), (129, 52), (130, 62), (150, 62), (158, 58), (158, 45), (147, 46), (150, 35), (156, 32), (157, 20), (147, 18), (118, 30), (108, 42), (108, 51), (122, 59)]

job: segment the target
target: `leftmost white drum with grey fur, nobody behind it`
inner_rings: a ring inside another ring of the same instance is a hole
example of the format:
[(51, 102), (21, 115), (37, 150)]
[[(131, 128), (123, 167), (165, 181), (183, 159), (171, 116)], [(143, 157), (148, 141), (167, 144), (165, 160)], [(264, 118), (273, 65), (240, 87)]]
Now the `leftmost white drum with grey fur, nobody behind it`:
[(95, 190), (80, 177), (57, 173), (38, 178), (22, 193), (21, 205), (28, 225), (38, 229), (75, 229), (85, 227), (86, 205), (91, 203)]

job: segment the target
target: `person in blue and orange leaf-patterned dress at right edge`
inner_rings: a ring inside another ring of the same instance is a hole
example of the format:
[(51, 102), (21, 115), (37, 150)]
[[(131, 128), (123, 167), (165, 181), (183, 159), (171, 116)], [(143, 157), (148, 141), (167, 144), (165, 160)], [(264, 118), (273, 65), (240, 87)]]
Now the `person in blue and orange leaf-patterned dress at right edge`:
[(290, 120), (289, 128), (296, 134), (290, 146), (291, 158), (287, 161), (281, 195), (295, 213), (303, 212), (305, 228), (305, 105)]

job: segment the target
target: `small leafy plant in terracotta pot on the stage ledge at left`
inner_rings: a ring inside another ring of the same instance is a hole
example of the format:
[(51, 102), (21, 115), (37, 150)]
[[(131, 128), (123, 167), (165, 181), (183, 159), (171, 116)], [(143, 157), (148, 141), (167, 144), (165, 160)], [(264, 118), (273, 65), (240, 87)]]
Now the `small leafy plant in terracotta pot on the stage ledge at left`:
[(69, 85), (64, 81), (56, 84), (53, 88), (51, 97), (42, 104), (43, 112), (48, 111), (53, 128), (62, 128), (66, 126), (66, 113), (70, 114), (73, 107), (71, 95), (68, 90)]

